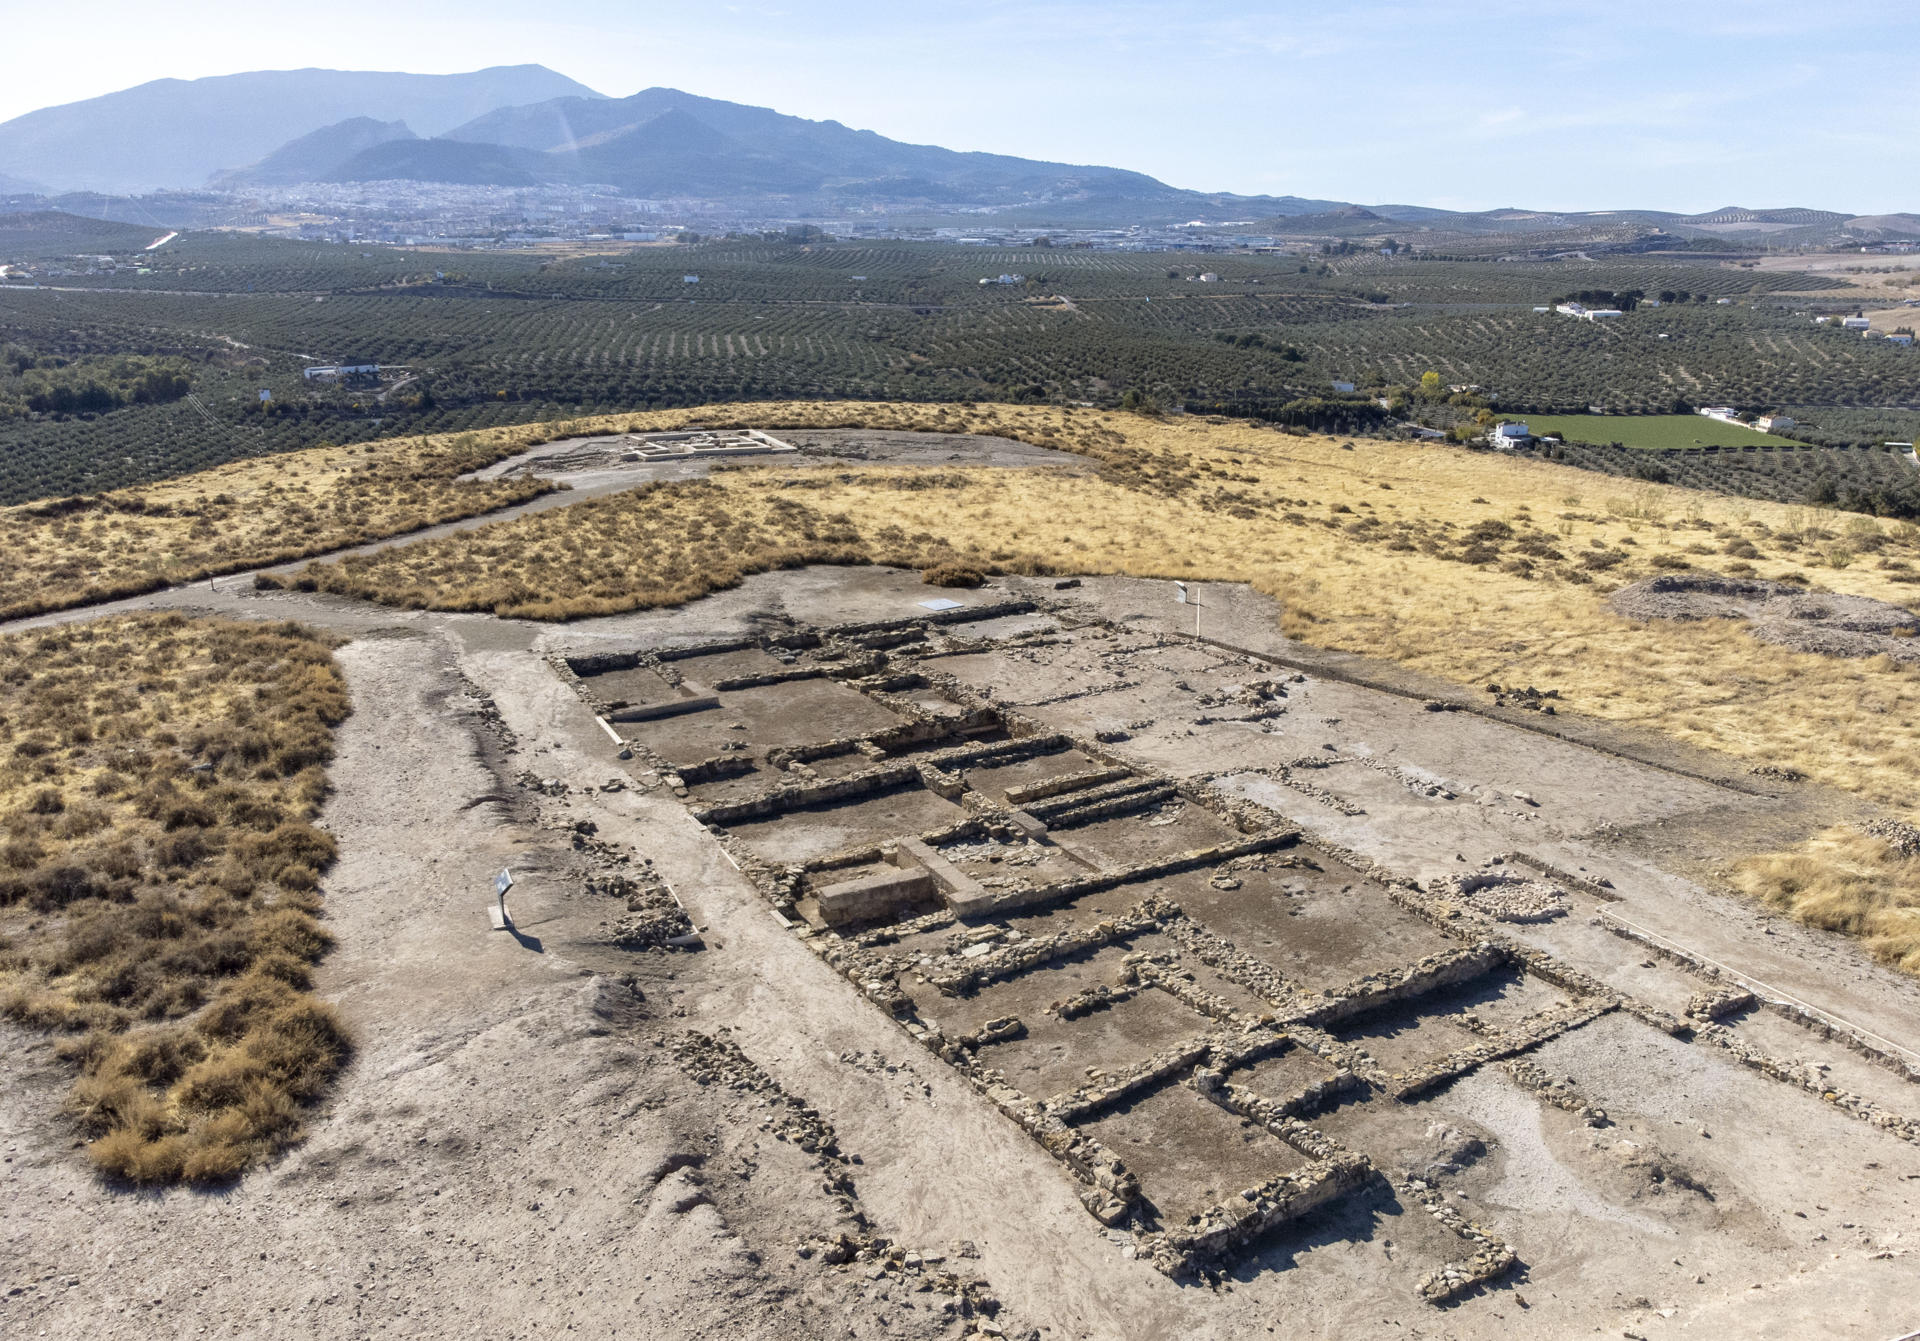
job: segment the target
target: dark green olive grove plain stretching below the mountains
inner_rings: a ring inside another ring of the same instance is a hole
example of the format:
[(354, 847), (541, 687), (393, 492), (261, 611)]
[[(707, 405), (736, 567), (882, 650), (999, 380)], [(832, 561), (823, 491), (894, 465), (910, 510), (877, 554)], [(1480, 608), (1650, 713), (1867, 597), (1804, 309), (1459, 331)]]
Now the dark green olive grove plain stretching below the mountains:
[[(1202, 267), (1068, 248), (735, 238), (557, 259), (184, 234), (146, 269), (0, 292), (0, 344), (38, 377), (127, 354), (188, 369), (179, 398), (0, 423), (0, 501), (323, 442), (720, 400), (1116, 403), (1137, 392), (1359, 432), (1380, 421), (1375, 396), (1427, 371), (1484, 388), (1501, 409), (1651, 413), (1676, 400), (1897, 405), (1914, 367), (1809, 325), (1809, 305), (1843, 302), (1843, 279), (1684, 257), (1219, 256)], [(1021, 279), (979, 284), (998, 275)], [(1738, 304), (1642, 309), (1607, 327), (1532, 311), (1590, 288)], [(388, 371), (349, 384), (301, 377), (344, 357)], [(1359, 390), (1338, 396), (1334, 380)], [(1818, 442), (1849, 432), (1822, 428), (1818, 413), (1807, 423)]]

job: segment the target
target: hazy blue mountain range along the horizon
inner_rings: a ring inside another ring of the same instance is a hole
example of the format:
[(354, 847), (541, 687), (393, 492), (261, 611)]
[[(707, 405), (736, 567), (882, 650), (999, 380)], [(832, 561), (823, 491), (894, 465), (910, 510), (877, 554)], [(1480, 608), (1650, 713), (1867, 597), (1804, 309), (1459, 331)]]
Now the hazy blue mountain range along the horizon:
[[(1014, 227), (1236, 221), (1323, 236), (1920, 236), (1916, 215), (1826, 209), (1455, 213), (1167, 186), (1119, 167), (902, 144), (839, 121), (645, 88), (607, 98), (543, 65), (465, 75), (330, 69), (159, 79), (0, 123), (0, 194), (223, 190), (301, 183), (605, 184), (628, 196), (806, 217), (852, 206), (991, 211)], [(106, 206), (88, 211), (109, 213)]]

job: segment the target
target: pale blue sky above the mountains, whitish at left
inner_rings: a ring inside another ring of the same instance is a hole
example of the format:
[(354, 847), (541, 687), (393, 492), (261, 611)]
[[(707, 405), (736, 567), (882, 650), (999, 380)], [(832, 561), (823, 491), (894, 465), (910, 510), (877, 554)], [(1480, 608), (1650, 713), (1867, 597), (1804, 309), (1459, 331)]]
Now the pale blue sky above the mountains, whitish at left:
[(10, 8), (0, 119), (163, 75), (538, 61), (1200, 190), (1920, 211), (1910, 0)]

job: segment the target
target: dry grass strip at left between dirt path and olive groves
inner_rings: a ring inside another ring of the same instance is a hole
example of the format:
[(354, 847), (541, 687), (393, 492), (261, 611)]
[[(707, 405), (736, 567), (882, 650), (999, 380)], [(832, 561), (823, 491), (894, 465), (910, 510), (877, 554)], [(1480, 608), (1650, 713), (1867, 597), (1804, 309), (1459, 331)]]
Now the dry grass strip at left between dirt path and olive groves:
[(520, 503), (551, 484), (455, 476), (624, 419), (522, 425), (234, 461), (113, 494), (0, 509), (0, 619), (286, 563)]

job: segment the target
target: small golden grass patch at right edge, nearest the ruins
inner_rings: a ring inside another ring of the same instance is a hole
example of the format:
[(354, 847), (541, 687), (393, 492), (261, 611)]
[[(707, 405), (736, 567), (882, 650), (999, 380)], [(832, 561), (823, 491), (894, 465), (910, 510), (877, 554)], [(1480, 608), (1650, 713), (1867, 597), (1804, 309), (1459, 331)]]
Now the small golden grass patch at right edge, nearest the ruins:
[(1751, 857), (1734, 886), (1801, 922), (1857, 936), (1874, 959), (1920, 974), (1920, 849), (1830, 828), (1797, 851)]

